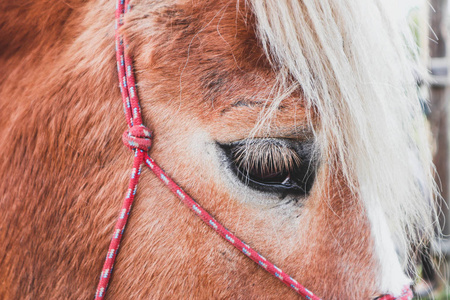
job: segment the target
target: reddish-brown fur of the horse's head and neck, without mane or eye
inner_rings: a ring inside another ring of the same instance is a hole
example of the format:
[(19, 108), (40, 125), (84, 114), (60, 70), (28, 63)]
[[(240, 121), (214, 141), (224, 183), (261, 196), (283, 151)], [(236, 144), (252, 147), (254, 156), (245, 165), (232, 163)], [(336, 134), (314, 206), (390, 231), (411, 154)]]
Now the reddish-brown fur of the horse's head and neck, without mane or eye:
[[(114, 1), (0, 4), (0, 298), (94, 295), (132, 155), (114, 59)], [(201, 205), (326, 299), (367, 299), (377, 265), (360, 201), (322, 165), (303, 207), (242, 201), (215, 141), (246, 138), (275, 74), (244, 1), (134, 1), (131, 41), (151, 155)], [(50, 17), (51, 16), (51, 17)], [(293, 95), (261, 136), (302, 139)], [(203, 151), (205, 150), (205, 151)], [(203, 152), (199, 152), (203, 151)], [(331, 180), (330, 180), (331, 179)], [(110, 299), (297, 298), (201, 223), (151, 172)]]

